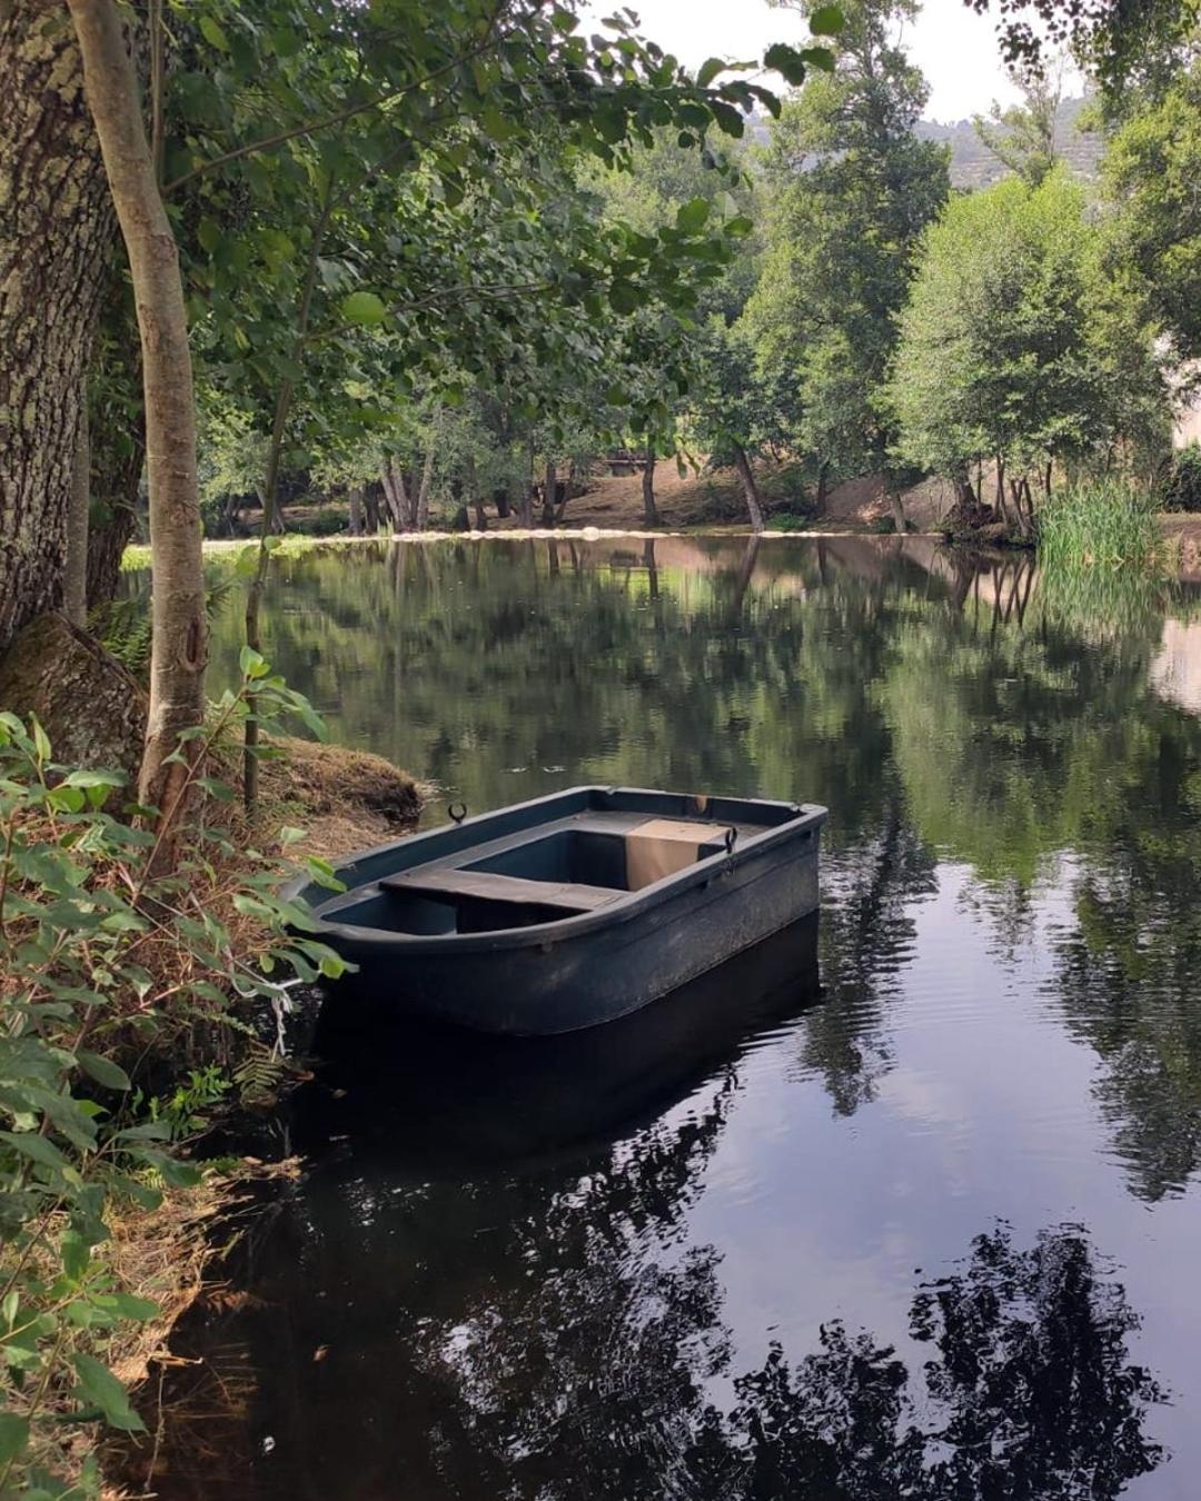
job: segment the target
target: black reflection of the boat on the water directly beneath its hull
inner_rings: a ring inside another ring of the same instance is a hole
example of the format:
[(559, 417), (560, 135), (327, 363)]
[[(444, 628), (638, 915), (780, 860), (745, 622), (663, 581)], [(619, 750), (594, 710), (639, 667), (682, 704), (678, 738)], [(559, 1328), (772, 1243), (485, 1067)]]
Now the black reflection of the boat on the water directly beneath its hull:
[(498, 1037), (401, 1022), (386, 998), (323, 1007), (317, 1081), (294, 1100), (293, 1147), (350, 1142), (404, 1172), (554, 1159), (656, 1118), (820, 1000), (811, 914), (605, 1027)]

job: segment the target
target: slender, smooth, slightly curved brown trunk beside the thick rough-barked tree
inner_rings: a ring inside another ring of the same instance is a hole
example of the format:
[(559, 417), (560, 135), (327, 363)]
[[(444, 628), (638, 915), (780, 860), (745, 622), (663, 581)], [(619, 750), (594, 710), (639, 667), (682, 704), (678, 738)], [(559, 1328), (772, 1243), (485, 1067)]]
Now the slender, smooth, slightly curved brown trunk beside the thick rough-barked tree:
[(150, 717), (138, 797), (159, 809), (153, 865), (171, 869), (177, 812), (200, 741), (168, 761), (185, 729), (204, 719), (204, 570), (197, 500), (197, 428), (183, 282), (143, 128), (134, 65), (114, 0), (68, 0), (84, 60), (84, 87), (129, 255), (141, 333), (150, 488)]

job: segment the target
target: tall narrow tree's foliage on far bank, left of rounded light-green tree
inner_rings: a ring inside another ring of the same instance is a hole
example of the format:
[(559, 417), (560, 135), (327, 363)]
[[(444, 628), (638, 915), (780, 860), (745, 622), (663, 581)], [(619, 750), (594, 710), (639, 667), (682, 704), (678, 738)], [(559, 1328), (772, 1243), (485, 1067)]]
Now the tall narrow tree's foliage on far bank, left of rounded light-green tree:
[(758, 369), (788, 387), (796, 443), (853, 474), (886, 461), (880, 392), (895, 318), (949, 180), (946, 152), (914, 135), (928, 89), (895, 39), (916, 8), (844, 9), (835, 72), (814, 78), (772, 131), (772, 215), (746, 321)]

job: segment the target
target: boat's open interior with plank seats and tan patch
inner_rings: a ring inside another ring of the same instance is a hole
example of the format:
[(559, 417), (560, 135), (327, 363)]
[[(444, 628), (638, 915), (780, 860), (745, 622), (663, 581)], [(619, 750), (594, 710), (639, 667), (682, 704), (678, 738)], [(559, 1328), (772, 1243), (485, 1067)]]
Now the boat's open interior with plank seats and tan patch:
[(673, 817), (643, 808), (588, 808), (495, 839), (480, 829), (480, 842), (453, 853), (431, 848), (428, 860), (323, 902), (320, 916), (420, 935), (557, 922), (607, 907), (698, 860), (733, 853), (791, 812), (785, 805), (737, 803), (727, 805), (737, 817), (721, 817), (719, 805), (701, 806), (703, 812)]

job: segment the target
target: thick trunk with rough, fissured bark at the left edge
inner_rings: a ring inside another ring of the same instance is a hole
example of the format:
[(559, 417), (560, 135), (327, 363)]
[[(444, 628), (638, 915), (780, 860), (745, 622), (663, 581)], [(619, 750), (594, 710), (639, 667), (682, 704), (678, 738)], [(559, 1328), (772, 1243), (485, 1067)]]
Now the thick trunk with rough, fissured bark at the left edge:
[(80, 47), (0, 0), (0, 650), (62, 600), (80, 393), (116, 219)]

